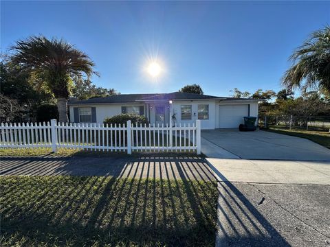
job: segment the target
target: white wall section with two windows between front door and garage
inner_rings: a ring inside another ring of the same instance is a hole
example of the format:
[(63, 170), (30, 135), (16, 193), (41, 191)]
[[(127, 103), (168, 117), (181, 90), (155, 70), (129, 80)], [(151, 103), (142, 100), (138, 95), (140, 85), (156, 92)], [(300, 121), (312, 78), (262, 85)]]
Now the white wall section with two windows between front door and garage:
[[(173, 115), (173, 112), (176, 113), (175, 117), (177, 118), (177, 124), (196, 124), (198, 119), (198, 105), (199, 104), (208, 104), (208, 115), (209, 118), (202, 120), (201, 119), (201, 128), (202, 129), (214, 129), (215, 128), (215, 101), (214, 100), (186, 100), (186, 101), (173, 101), (172, 103), (172, 112), (170, 116)], [(191, 105), (192, 106), (192, 116), (191, 120), (181, 120), (181, 105)]]

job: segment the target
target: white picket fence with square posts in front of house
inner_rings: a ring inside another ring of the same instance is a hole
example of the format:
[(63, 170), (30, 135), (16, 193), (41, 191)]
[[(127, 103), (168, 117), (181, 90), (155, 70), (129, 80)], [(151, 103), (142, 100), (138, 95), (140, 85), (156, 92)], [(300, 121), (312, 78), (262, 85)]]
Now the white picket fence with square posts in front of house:
[(201, 154), (201, 122), (196, 125), (1, 124), (0, 148), (74, 148), (107, 152), (197, 152)]

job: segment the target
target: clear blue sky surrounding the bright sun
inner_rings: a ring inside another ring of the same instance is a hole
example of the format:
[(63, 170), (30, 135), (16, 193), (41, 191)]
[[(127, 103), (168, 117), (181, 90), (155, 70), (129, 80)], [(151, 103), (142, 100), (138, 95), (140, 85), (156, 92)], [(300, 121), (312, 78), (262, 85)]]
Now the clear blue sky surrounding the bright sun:
[[(65, 38), (96, 63), (98, 86), (121, 93), (210, 95), (281, 89), (287, 58), (330, 24), (330, 2), (1, 1), (1, 50), (34, 34)], [(145, 67), (164, 68), (154, 80)]]

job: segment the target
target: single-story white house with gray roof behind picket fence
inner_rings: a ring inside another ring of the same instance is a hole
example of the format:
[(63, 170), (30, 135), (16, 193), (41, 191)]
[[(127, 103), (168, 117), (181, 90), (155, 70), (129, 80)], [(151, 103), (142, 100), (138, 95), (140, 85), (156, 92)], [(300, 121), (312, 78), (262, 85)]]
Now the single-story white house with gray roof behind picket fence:
[[(202, 129), (238, 128), (243, 117), (258, 117), (259, 99), (197, 95), (193, 93), (122, 94), (69, 102), (72, 122), (102, 123), (120, 113), (144, 115), (153, 124), (192, 124)], [(174, 117), (175, 116), (175, 117)]]

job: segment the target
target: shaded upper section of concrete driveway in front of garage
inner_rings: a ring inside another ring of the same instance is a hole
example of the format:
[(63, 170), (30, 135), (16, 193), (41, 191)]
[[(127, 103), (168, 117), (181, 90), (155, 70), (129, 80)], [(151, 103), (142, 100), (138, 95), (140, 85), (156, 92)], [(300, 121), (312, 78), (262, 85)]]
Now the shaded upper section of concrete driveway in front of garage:
[(201, 151), (210, 158), (330, 161), (330, 150), (299, 137), (267, 131), (202, 130)]

